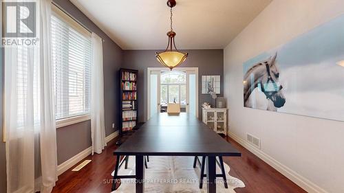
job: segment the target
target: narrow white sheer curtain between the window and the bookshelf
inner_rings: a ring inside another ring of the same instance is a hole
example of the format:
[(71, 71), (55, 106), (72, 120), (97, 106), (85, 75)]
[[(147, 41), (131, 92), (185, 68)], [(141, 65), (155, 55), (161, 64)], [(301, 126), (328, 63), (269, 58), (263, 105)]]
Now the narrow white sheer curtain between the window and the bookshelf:
[(106, 146), (104, 121), (103, 40), (92, 33), (91, 137), (92, 155)]

